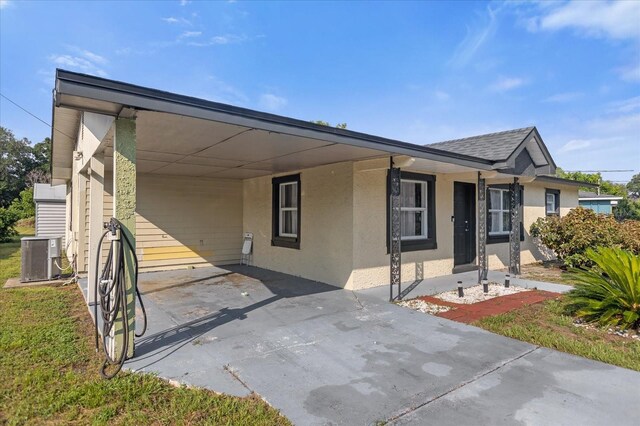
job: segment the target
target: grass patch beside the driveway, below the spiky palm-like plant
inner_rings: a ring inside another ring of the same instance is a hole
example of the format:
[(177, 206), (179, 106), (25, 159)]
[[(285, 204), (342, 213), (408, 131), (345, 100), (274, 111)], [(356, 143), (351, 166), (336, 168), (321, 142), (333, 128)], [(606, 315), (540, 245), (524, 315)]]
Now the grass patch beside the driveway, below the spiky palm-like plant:
[(563, 298), (483, 318), (474, 325), (534, 345), (640, 371), (640, 341), (573, 325)]

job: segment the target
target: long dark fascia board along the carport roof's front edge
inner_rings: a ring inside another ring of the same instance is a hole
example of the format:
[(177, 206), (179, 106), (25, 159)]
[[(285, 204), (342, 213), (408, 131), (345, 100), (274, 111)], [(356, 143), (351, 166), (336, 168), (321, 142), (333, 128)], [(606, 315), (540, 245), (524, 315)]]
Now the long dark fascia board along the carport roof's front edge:
[[(248, 128), (375, 149), (393, 154), (426, 158), (443, 163), (459, 164), (481, 170), (490, 170), (491, 164), (493, 163), (489, 160), (450, 153), (407, 142), (367, 135), (351, 130), (322, 126), (303, 120), (252, 111), (245, 108), (63, 70), (57, 71), (56, 91), (56, 106), (74, 108), (72, 105), (64, 105), (64, 95), (71, 95), (112, 102), (114, 104), (143, 110), (185, 115)], [(100, 111), (94, 112), (104, 114), (104, 112)]]

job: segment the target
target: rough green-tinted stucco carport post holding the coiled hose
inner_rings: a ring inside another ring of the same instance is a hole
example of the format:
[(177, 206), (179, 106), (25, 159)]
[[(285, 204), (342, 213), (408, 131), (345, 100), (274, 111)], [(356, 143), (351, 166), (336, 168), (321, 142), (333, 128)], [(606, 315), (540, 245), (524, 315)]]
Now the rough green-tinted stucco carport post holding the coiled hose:
[[(115, 120), (113, 138), (113, 217), (122, 224), (122, 230), (136, 246), (136, 122), (135, 119), (118, 118)], [(133, 339), (136, 327), (135, 270), (134, 253), (129, 250), (124, 238), (125, 285), (127, 295), (127, 314), (129, 316), (129, 349), (127, 358), (133, 357)], [(116, 321), (116, 324), (120, 324)], [(114, 330), (115, 353), (119, 353), (124, 344), (121, 325)]]

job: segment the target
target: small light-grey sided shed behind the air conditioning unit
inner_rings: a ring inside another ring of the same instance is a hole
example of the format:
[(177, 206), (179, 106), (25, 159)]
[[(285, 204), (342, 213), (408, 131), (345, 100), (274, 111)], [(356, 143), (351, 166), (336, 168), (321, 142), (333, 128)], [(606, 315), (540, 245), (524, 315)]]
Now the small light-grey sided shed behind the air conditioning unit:
[(66, 185), (35, 184), (33, 201), (36, 204), (37, 237), (63, 237), (64, 244), (66, 196)]

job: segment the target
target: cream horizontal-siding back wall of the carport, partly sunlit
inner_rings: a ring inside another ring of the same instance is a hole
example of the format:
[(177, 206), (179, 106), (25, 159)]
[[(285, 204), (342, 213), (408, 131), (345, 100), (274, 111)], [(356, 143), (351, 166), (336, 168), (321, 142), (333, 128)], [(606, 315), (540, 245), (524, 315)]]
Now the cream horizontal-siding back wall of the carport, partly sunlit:
[[(112, 212), (113, 175), (106, 173), (104, 221)], [(138, 175), (136, 253), (141, 270), (239, 263), (241, 249), (242, 181)]]

